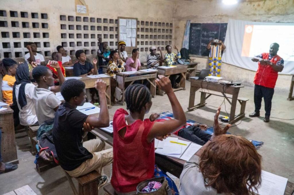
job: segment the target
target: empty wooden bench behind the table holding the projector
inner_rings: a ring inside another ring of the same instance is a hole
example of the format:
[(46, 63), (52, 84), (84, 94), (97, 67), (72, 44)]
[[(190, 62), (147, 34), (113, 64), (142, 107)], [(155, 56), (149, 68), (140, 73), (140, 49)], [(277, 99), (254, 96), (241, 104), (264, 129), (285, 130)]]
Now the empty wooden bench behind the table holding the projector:
[[(229, 99), (232, 99), (233, 98), (233, 96), (230, 95), (230, 94), (225, 94), (225, 93), (220, 93), (220, 92), (215, 92), (215, 91), (209, 91), (209, 90), (204, 90), (204, 89), (203, 90), (200, 90), (199, 92), (205, 94), (205, 100), (207, 98), (209, 98), (211, 95), (216, 95), (216, 96), (224, 97), (231, 104), (231, 101)], [(208, 94), (207, 97), (206, 97), (206, 94)], [(238, 97), (237, 100), (240, 103), (241, 108), (240, 108), (240, 114), (238, 114), (238, 116), (235, 117), (235, 120), (234, 121), (238, 121), (238, 120), (240, 120), (241, 118), (243, 118), (245, 116), (246, 102), (249, 99)], [(233, 123), (233, 122), (230, 122), (230, 123)]]

